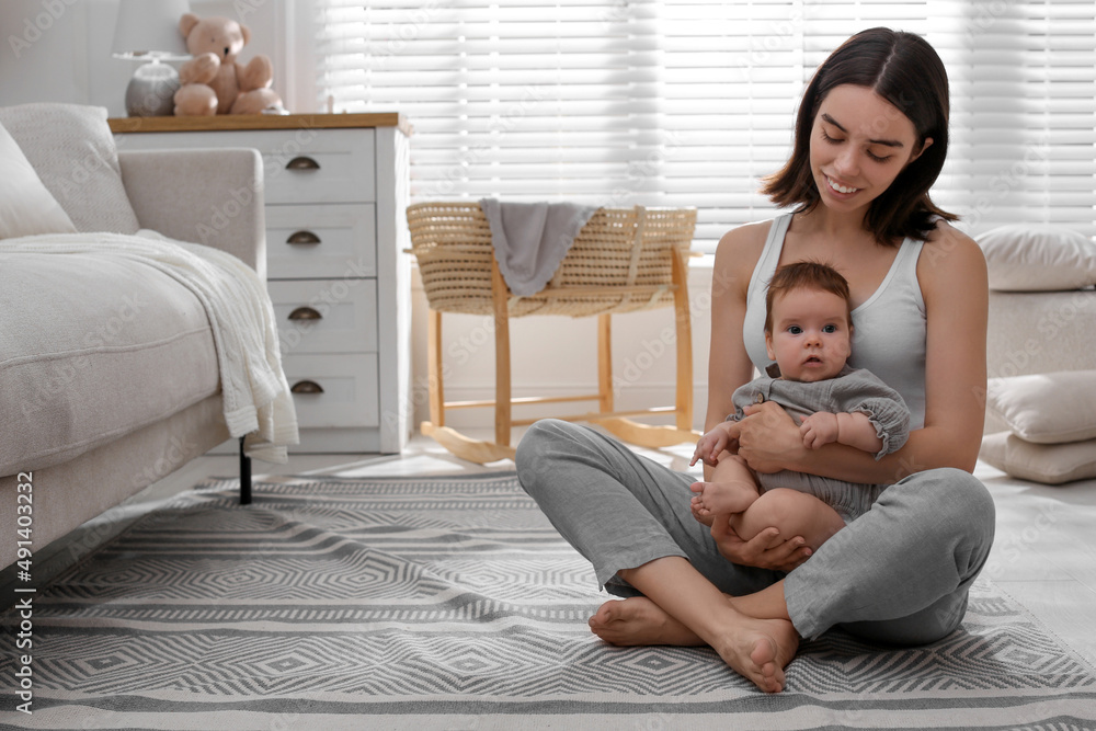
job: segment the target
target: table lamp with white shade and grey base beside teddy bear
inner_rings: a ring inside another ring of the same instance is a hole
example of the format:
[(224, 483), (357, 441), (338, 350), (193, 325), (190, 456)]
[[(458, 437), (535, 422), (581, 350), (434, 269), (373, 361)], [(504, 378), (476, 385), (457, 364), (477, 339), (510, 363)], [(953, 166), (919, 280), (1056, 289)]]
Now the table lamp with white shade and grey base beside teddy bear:
[(122, 0), (114, 24), (115, 58), (147, 60), (126, 88), (126, 113), (132, 117), (174, 113), (179, 73), (163, 61), (190, 58), (179, 21), (191, 12), (187, 0)]

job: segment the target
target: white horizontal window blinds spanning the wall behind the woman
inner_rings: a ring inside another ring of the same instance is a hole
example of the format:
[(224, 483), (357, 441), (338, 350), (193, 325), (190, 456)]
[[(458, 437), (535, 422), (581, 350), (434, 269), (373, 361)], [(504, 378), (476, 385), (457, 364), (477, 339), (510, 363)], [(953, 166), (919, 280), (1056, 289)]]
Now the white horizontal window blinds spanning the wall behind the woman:
[(972, 233), (1096, 233), (1091, 0), (308, 0), (317, 105), (399, 110), (412, 199), (695, 206), (695, 248), (776, 214), (803, 85), (857, 30), (925, 36), (951, 81), (934, 197)]

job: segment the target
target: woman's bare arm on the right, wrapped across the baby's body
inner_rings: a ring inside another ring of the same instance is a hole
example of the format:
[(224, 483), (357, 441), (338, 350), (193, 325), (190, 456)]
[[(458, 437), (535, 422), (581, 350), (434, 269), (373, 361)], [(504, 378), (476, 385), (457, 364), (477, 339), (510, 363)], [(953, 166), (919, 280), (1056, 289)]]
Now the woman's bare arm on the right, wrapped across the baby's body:
[[(803, 447), (783, 409), (746, 409), (739, 454), (757, 471), (792, 469), (850, 482), (892, 483), (935, 467), (974, 469), (985, 415), (985, 332), (989, 284), (974, 241), (946, 224), (922, 250), (917, 278), (927, 333), (925, 425), (898, 452), (876, 461), (840, 444)], [(753, 420), (753, 421), (752, 421)]]

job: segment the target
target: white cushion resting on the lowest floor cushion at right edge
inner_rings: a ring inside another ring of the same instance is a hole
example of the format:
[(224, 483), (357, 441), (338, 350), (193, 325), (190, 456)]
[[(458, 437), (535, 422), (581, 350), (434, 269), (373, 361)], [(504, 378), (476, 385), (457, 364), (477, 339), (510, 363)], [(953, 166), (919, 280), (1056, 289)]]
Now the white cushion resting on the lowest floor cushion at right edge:
[(1096, 438), (1096, 370), (991, 378), (985, 409), (1026, 442)]

